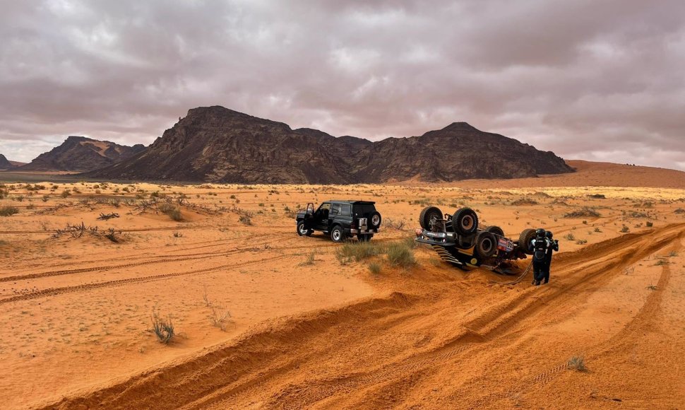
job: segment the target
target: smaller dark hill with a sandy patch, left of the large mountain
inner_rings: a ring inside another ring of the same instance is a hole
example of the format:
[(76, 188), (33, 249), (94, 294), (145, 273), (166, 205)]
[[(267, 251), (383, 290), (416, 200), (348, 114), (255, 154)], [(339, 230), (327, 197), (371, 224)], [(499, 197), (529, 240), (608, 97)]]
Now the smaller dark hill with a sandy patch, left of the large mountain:
[(125, 160), (145, 149), (145, 146), (123, 146), (109, 141), (97, 141), (85, 136), (69, 136), (60, 146), (42, 153), (21, 166), (21, 171), (84, 172), (105, 168)]

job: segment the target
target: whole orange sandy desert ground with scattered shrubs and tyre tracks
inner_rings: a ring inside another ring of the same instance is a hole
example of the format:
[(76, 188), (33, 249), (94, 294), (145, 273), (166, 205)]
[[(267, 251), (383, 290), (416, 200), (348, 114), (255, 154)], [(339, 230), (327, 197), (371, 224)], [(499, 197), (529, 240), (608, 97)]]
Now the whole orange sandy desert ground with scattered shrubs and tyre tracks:
[[(682, 408), (685, 174), (571, 165), (449, 184), (4, 182), (1, 407)], [(327, 199), (376, 201), (372, 242), (415, 263), (299, 237), (294, 212)], [(550, 283), (410, 245), (429, 204), (511, 238), (552, 230)]]

